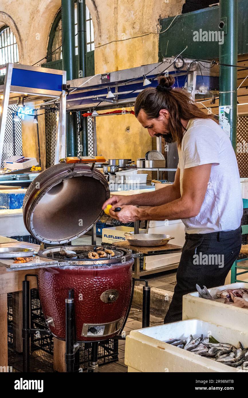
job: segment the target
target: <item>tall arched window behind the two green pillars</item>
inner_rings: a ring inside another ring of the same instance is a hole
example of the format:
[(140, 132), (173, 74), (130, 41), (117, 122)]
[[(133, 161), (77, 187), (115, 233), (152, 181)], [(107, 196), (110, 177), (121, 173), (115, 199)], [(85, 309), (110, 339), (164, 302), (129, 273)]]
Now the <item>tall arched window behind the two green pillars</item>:
[[(90, 11), (86, 6), (86, 31), (87, 31), (87, 51), (93, 51), (94, 46), (94, 28)], [(77, 35), (77, 9), (75, 3), (75, 55), (78, 55), (78, 35)], [(61, 10), (57, 13), (49, 34), (49, 43), (47, 48), (47, 62), (62, 59), (62, 21)]]

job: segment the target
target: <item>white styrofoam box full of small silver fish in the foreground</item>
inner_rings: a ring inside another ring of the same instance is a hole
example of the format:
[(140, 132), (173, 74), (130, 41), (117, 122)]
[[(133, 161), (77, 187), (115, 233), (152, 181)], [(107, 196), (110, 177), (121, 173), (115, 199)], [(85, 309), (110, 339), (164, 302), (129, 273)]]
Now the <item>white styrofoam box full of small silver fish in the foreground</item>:
[(199, 319), (175, 322), (139, 330), (131, 330), (126, 337), (125, 365), (130, 371), (138, 372), (240, 372), (213, 359), (201, 357), (191, 351), (165, 343), (169, 339), (186, 339), (190, 334), (194, 338), (210, 334), (220, 343), (238, 342), (248, 347), (248, 333), (219, 326)]

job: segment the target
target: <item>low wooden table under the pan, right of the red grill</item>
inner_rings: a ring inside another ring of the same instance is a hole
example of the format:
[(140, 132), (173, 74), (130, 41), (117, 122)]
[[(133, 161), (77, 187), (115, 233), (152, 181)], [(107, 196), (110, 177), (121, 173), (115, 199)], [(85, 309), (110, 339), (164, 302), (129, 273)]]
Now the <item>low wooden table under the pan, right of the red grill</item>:
[[(154, 247), (144, 247), (144, 246), (133, 246), (130, 245), (129, 242), (116, 242), (115, 246), (122, 247), (124, 249), (132, 250), (134, 253), (143, 253), (144, 256), (158, 256), (159, 254), (169, 254), (169, 253), (180, 253), (182, 252), (181, 246), (172, 245), (170, 243), (163, 246), (154, 246)], [(169, 269), (176, 269), (178, 267), (178, 263), (165, 265), (164, 267), (158, 267), (154, 269), (148, 270), (140, 270), (140, 259), (139, 257), (134, 259), (134, 272), (133, 277), (135, 279), (140, 279), (145, 275), (151, 275), (158, 272), (168, 271)], [(135, 285), (139, 286), (139, 282), (135, 282)]]

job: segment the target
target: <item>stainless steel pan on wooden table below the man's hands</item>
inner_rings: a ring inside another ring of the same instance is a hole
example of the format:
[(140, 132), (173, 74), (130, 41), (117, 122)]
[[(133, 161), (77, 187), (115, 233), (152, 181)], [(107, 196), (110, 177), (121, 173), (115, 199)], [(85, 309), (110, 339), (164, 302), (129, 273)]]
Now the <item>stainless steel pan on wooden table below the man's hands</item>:
[(169, 240), (174, 239), (173, 236), (163, 234), (136, 234), (132, 235), (129, 232), (125, 234), (126, 240), (132, 246), (154, 247), (166, 245)]

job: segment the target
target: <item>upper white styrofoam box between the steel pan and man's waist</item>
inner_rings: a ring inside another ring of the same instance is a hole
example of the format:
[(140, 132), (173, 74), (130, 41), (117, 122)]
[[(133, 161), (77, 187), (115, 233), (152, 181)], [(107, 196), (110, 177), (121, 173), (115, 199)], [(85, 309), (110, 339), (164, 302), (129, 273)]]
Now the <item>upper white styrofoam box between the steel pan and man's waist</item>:
[(175, 239), (169, 243), (177, 246), (184, 246), (185, 243), (185, 225), (182, 220), (150, 221), (148, 233), (174, 236)]

